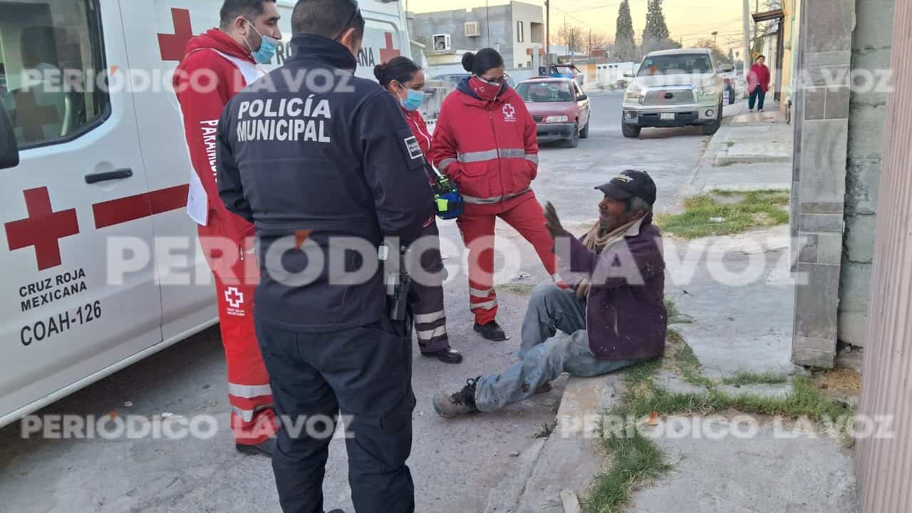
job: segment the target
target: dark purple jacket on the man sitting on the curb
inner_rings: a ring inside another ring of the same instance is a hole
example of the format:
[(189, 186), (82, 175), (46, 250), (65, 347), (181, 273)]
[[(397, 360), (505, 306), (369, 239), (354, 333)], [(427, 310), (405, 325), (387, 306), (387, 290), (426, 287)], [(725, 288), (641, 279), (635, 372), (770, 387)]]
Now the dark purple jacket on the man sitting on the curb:
[(598, 360), (640, 360), (665, 352), (665, 259), (652, 214), (596, 255), (570, 240), (570, 271), (589, 277), (589, 351)]

